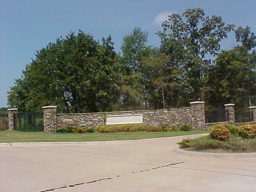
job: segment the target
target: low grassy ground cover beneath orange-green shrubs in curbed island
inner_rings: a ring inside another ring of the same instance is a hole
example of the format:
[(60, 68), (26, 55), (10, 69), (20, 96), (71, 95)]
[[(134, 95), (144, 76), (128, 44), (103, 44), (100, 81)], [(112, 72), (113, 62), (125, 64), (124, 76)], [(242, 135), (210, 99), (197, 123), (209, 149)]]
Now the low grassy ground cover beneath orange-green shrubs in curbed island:
[(256, 139), (243, 139), (234, 135), (231, 135), (227, 141), (212, 139), (208, 135), (195, 139), (183, 139), (178, 144), (180, 148), (189, 151), (214, 153), (256, 152)]

